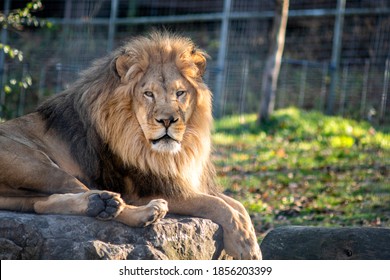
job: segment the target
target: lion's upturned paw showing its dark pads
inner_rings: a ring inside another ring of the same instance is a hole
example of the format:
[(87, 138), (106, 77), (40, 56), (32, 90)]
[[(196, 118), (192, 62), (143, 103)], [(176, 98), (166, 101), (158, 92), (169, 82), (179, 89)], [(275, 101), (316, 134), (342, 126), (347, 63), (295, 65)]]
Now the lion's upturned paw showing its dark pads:
[(110, 220), (119, 215), (124, 203), (119, 194), (112, 192), (97, 192), (88, 197), (86, 214), (100, 220)]

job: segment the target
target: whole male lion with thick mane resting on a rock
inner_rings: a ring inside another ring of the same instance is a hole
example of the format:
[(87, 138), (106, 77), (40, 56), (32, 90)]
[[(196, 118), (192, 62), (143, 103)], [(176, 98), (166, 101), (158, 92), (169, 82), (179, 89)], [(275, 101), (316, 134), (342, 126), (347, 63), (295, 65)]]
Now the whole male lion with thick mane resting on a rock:
[(1, 124), (0, 209), (139, 227), (169, 205), (221, 225), (233, 258), (260, 259), (249, 215), (214, 182), (206, 56), (166, 32), (137, 37), (36, 112)]

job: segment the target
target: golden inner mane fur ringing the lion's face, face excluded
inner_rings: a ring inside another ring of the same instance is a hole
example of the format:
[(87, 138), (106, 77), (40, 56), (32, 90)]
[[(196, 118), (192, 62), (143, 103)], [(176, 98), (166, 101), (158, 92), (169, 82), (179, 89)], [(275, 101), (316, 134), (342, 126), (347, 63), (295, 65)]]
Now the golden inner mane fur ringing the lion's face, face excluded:
[[(201, 175), (203, 170), (209, 168), (207, 165), (211, 145), (211, 92), (201, 79), (206, 62), (205, 53), (196, 51), (188, 39), (171, 38), (167, 34), (161, 36), (157, 33), (151, 38), (140, 37), (132, 40), (121, 51), (125, 53), (125, 58), (120, 57), (118, 60), (121, 61), (117, 60), (117, 69), (123, 71), (122, 84), (113, 93), (103, 93), (103, 96), (99, 97), (102, 102), (96, 103), (96, 107), (92, 108), (93, 112), (97, 112), (94, 117), (98, 130), (125, 164), (137, 166), (143, 172), (152, 172), (156, 176), (174, 177), (180, 181), (185, 193), (198, 191), (194, 190), (194, 187), (202, 186)], [(181, 151), (174, 155), (150, 149), (131, 104), (134, 101), (129, 93), (136, 90), (141, 79), (149, 79), (149, 73), (145, 72), (154, 55), (164, 63), (175, 63), (178, 71), (195, 90), (191, 104), (194, 112), (182, 127), (186, 131), (181, 142)]]

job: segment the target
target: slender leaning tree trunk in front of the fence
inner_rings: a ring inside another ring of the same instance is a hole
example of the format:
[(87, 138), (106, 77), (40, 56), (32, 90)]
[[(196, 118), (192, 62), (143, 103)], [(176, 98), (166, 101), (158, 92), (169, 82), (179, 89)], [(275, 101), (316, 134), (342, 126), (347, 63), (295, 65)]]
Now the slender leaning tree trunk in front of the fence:
[(286, 35), (288, 6), (289, 0), (275, 0), (275, 16), (270, 38), (271, 46), (262, 78), (259, 123), (267, 121), (275, 107), (275, 93)]

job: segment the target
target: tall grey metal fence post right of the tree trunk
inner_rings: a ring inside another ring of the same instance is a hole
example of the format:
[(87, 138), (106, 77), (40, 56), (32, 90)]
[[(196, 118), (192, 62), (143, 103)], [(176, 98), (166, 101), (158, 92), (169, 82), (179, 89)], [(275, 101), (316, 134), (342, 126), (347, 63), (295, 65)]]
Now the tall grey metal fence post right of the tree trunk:
[(345, 14), (345, 2), (346, 0), (337, 0), (337, 14), (336, 22), (333, 33), (333, 47), (332, 47), (332, 61), (330, 63), (331, 81), (328, 95), (328, 102), (326, 107), (326, 113), (328, 115), (333, 114), (334, 97), (336, 86), (338, 82), (338, 71), (340, 64), (342, 36), (343, 36), (343, 25), (344, 25), (344, 14)]

